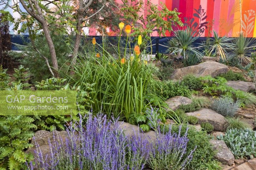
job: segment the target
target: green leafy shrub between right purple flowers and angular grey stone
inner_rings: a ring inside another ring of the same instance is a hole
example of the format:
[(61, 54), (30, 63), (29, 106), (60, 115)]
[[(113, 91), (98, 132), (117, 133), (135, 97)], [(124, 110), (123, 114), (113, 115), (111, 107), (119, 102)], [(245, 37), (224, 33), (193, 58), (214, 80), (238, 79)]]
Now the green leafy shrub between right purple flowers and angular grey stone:
[[(186, 129), (187, 126), (183, 125), (181, 135), (186, 132)], [(179, 127), (172, 125), (172, 131), (177, 133), (179, 131)], [(188, 150), (192, 150), (195, 148), (195, 146), (196, 150), (193, 153), (193, 158), (190, 161), (187, 169), (221, 169), (220, 163), (214, 159), (215, 153), (212, 149), (212, 145), (209, 142), (210, 138), (205, 131), (197, 131), (194, 127), (189, 127), (188, 139)], [(188, 154), (189, 153), (186, 153), (186, 155)]]

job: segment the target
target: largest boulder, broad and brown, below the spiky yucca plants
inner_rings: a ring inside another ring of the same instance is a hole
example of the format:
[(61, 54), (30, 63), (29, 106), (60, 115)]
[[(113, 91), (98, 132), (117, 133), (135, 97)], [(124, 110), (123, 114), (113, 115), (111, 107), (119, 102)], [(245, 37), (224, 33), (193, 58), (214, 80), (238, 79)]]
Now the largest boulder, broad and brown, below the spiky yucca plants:
[(212, 76), (216, 77), (222, 73), (228, 72), (228, 66), (215, 61), (207, 60), (203, 63), (176, 69), (173, 72), (172, 79), (179, 80), (188, 74), (193, 74), (197, 77)]

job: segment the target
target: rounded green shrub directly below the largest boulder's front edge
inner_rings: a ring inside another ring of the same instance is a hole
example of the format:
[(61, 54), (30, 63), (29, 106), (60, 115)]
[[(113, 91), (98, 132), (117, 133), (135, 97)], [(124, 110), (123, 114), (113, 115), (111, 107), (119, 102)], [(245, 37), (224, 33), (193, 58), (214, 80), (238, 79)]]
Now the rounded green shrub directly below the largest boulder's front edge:
[(180, 84), (188, 86), (190, 90), (199, 90), (202, 87), (200, 78), (197, 78), (194, 75), (184, 76)]

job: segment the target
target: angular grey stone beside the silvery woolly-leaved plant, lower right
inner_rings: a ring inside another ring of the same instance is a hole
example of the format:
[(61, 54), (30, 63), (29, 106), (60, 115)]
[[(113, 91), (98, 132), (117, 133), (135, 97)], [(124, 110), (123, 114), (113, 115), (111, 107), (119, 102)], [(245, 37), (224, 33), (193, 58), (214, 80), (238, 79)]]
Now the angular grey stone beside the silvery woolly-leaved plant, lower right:
[(216, 159), (218, 159), (221, 163), (227, 164), (229, 166), (234, 163), (235, 157), (224, 141), (210, 140), (210, 143), (213, 145), (213, 149), (217, 151), (215, 154)]

